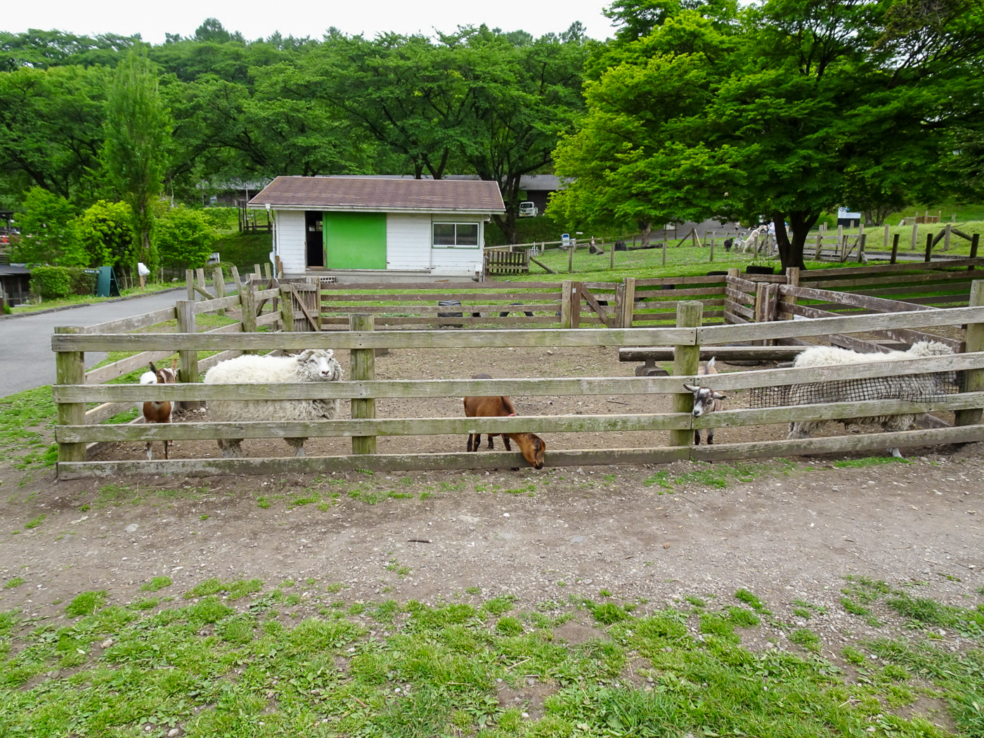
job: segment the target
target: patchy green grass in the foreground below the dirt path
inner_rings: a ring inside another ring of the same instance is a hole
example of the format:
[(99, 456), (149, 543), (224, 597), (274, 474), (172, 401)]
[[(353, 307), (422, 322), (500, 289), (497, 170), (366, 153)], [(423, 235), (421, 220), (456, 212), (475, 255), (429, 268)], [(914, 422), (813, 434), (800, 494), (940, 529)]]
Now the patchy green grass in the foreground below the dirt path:
[[(904, 643), (841, 646), (857, 672), (848, 675), (807, 629), (788, 629), (805, 654), (746, 648), (743, 638), (767, 634), (741, 607), (643, 613), (551, 602), (547, 617), (507, 615), (510, 597), (478, 606), (382, 599), (339, 601), (285, 625), (277, 607), (288, 598), (256, 584), (207, 580), (191, 590), (197, 601), (167, 607), (82, 592), (61, 624), (0, 611), (5, 734), (949, 736), (931, 719), (939, 715), (920, 712), (921, 697), (945, 701), (961, 735), (984, 724), (980, 651), (952, 652), (918, 631)], [(851, 584), (886, 596), (877, 583)], [(219, 598), (237, 587), (254, 596)], [(746, 599), (761, 603), (753, 592)], [(599, 638), (567, 644), (554, 629), (583, 608)], [(541, 706), (500, 702), (502, 688), (530, 679)]]

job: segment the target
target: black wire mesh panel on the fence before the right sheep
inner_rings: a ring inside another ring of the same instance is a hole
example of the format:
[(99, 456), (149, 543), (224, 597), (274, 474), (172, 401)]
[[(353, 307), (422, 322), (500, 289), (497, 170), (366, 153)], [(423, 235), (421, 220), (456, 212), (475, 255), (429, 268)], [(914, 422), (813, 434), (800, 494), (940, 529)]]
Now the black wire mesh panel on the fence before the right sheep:
[(861, 402), (864, 400), (909, 400), (930, 402), (960, 392), (962, 372), (931, 372), (893, 377), (864, 377), (834, 382), (810, 382), (782, 387), (756, 387), (749, 391), (750, 407), (780, 407), (792, 404)]

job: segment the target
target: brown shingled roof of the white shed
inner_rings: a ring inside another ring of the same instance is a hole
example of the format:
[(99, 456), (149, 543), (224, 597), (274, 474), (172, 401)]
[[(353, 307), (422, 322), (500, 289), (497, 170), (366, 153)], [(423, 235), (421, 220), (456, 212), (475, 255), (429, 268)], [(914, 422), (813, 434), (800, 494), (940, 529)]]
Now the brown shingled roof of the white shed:
[(250, 206), (308, 210), (502, 213), (497, 182), (375, 177), (277, 177)]

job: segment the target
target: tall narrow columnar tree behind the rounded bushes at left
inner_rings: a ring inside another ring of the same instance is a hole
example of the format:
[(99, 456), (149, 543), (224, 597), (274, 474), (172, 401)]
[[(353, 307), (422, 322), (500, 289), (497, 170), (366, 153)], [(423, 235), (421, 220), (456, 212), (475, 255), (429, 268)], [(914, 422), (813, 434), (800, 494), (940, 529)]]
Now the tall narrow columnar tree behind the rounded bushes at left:
[(117, 67), (106, 100), (105, 142), (100, 159), (110, 181), (130, 206), (140, 261), (153, 269), (154, 201), (162, 190), (171, 133), (170, 111), (157, 91), (146, 53), (131, 51)]

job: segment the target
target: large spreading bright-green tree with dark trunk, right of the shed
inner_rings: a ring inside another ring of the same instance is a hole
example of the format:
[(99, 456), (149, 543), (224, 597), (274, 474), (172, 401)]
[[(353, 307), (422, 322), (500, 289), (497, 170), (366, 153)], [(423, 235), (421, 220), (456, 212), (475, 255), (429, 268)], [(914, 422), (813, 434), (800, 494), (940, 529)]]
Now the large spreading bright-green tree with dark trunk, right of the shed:
[(982, 88), (973, 12), (767, 0), (721, 24), (711, 6), (680, 10), (609, 50), (624, 61), (586, 90), (584, 126), (557, 153), (578, 179), (555, 207), (590, 221), (766, 215), (783, 267), (802, 267), (822, 212), (911, 196), (952, 158)]

